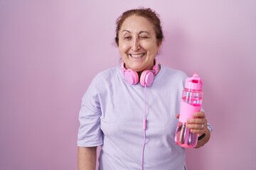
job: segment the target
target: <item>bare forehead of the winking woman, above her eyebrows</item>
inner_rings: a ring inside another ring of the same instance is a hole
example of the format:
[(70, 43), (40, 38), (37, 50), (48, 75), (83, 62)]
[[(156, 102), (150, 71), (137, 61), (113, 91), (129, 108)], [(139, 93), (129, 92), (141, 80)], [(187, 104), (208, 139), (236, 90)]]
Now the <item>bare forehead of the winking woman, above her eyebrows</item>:
[(154, 33), (154, 25), (143, 16), (129, 16), (122, 23), (120, 31), (129, 30), (132, 32), (146, 31)]

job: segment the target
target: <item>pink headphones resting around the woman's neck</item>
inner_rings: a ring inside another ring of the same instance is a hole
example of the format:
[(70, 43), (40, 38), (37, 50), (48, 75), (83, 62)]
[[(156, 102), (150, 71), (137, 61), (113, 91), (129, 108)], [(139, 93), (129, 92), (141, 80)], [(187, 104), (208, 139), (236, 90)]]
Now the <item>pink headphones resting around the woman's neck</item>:
[(152, 70), (144, 70), (142, 72), (142, 75), (140, 77), (139, 81), (139, 75), (137, 72), (134, 72), (132, 69), (125, 69), (124, 62), (122, 62), (122, 72), (124, 74), (124, 79), (129, 84), (137, 84), (140, 82), (142, 86), (151, 86), (151, 84), (154, 81), (154, 75), (156, 75), (159, 72), (159, 63), (156, 62), (156, 59), (154, 60), (154, 67)]

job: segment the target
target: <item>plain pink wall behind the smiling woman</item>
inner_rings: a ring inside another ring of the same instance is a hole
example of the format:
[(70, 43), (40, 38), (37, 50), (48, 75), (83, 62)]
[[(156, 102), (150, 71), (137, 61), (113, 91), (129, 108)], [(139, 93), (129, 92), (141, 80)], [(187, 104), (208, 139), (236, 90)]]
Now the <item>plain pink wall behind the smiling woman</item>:
[[(159, 60), (204, 80), (210, 142), (188, 168), (256, 169), (256, 1), (0, 1), (0, 170), (77, 169), (80, 100), (119, 64), (115, 19), (154, 8)], [(160, 168), (160, 167), (159, 167)]]

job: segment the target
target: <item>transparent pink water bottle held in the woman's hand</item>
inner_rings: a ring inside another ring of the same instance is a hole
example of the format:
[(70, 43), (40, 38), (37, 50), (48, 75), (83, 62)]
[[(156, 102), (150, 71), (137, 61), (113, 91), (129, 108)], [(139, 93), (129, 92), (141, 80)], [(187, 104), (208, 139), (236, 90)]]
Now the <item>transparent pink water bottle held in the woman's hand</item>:
[(194, 73), (193, 77), (188, 77), (185, 82), (181, 100), (181, 111), (178, 118), (178, 126), (175, 134), (175, 142), (181, 147), (196, 147), (198, 134), (191, 133), (186, 128), (188, 118), (193, 118), (193, 113), (201, 111), (203, 101), (203, 82), (198, 74)]

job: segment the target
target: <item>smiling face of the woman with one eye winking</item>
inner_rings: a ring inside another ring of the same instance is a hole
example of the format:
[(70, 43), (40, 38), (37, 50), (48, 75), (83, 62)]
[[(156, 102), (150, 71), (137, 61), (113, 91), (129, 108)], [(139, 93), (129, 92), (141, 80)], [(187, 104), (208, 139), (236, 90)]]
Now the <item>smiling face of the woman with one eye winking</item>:
[(119, 30), (119, 53), (126, 69), (152, 69), (159, 52), (154, 26), (142, 16), (129, 16)]

